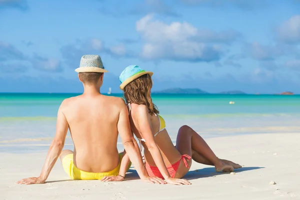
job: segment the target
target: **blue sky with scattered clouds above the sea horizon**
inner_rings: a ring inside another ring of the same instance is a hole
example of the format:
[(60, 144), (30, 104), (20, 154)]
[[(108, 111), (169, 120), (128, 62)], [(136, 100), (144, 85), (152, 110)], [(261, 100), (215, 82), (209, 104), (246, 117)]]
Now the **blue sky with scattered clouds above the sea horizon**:
[(300, 93), (300, 0), (0, 0), (0, 92), (82, 92), (84, 54), (102, 92), (136, 64), (153, 91)]

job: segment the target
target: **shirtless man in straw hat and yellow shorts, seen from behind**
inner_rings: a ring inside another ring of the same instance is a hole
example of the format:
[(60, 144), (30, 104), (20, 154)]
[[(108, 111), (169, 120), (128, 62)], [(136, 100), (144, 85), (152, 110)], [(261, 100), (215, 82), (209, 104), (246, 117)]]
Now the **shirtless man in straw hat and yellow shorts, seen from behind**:
[[(118, 133), (139, 177), (147, 182), (164, 183), (160, 178), (149, 177), (146, 172), (138, 145), (130, 131), (124, 100), (100, 93), (103, 72), (107, 72), (100, 56), (83, 55), (75, 71), (83, 83), (83, 94), (61, 102), (57, 112), (56, 133), (40, 175), (17, 183), (44, 183), (58, 156), (72, 179), (100, 180), (107, 175), (120, 176), (121, 156), (116, 148)], [(62, 151), (68, 128), (74, 151)]]

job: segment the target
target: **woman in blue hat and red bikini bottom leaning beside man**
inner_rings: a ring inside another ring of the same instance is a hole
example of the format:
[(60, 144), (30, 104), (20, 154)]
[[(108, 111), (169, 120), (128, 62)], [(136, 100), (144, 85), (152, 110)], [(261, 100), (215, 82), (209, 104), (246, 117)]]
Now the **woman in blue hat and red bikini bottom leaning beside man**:
[[(120, 88), (128, 106), (131, 130), (144, 147), (148, 174), (164, 178), (167, 183), (186, 184), (182, 179), (168, 179), (183, 177), (191, 165), (191, 158), (202, 164), (214, 165), (217, 172), (230, 172), (233, 168), (240, 168), (239, 164), (216, 157), (203, 138), (187, 125), (179, 128), (176, 146), (173, 145), (165, 129), (165, 121), (158, 115), (159, 111), (152, 103), (152, 74), (153, 72), (136, 65), (130, 65), (119, 76)], [(123, 169), (120, 169), (119, 176), (125, 175), (128, 161), (124, 155), (121, 163)], [(118, 180), (120, 179), (122, 178)], [(103, 180), (117, 178), (109, 176)]]

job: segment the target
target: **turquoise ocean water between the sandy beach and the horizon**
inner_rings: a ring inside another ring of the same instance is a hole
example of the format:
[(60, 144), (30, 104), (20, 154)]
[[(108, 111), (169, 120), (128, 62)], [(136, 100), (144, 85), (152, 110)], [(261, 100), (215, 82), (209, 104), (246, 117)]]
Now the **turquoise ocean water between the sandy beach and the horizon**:
[[(47, 150), (55, 133), (57, 109), (64, 98), (74, 95), (0, 93), (0, 152)], [(152, 94), (152, 99), (173, 142), (184, 124), (204, 138), (300, 132), (300, 95)], [(65, 148), (73, 148), (69, 133)], [(120, 140), (118, 148), (122, 150)]]

